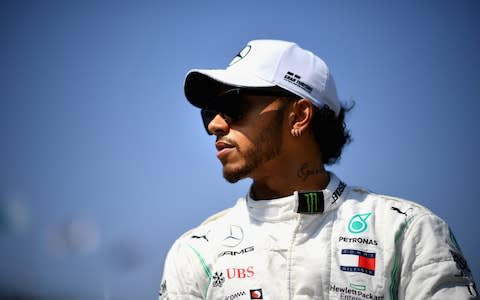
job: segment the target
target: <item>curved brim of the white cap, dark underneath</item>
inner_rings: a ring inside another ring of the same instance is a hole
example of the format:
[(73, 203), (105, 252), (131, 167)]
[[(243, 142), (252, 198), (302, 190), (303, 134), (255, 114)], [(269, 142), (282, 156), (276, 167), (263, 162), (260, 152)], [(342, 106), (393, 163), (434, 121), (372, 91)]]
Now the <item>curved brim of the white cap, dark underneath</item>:
[(258, 78), (252, 74), (231, 71), (230, 69), (194, 69), (185, 77), (184, 92), (188, 101), (203, 108), (213, 97), (217, 96), (224, 85), (232, 87), (260, 88), (275, 84)]

